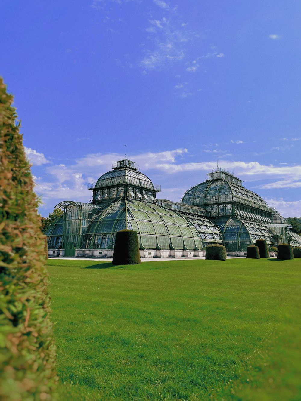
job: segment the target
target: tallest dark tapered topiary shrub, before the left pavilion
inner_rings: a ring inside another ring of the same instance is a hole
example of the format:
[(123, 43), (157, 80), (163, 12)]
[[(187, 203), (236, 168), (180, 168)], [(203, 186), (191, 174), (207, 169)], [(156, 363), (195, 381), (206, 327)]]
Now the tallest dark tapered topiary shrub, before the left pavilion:
[(116, 233), (113, 265), (138, 265), (141, 263), (137, 231), (121, 230)]

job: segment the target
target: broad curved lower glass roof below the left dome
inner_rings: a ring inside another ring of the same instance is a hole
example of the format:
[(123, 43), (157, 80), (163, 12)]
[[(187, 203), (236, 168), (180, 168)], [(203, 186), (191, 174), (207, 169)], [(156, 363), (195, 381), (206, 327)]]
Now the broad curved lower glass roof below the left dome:
[[(201, 216), (192, 217), (134, 199), (127, 205), (127, 228), (138, 232), (141, 249), (194, 250), (222, 241), (218, 227)], [(125, 203), (120, 199), (104, 206), (89, 225), (89, 247), (105, 249), (108, 244), (113, 245), (116, 232), (124, 228)]]

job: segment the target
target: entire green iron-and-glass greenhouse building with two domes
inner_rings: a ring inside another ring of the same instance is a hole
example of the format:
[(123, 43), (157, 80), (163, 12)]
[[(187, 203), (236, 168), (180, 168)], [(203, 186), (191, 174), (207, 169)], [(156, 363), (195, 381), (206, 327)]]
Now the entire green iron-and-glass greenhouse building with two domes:
[(116, 233), (125, 228), (137, 231), (141, 257), (203, 256), (213, 243), (242, 256), (260, 238), (269, 247), (301, 245), (277, 211), (220, 167), (179, 203), (157, 199), (161, 188), (128, 159), (116, 162), (89, 189), (89, 203), (56, 206), (63, 214), (47, 229), (49, 256), (112, 257)]

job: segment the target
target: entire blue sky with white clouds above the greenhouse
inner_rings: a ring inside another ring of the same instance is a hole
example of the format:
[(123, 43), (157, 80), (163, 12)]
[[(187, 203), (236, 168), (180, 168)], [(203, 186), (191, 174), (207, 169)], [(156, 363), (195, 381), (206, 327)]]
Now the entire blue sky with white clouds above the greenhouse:
[(0, 75), (40, 213), (88, 202), (126, 144), (158, 198), (218, 163), (300, 217), (300, 16), (299, 0), (2, 0)]

